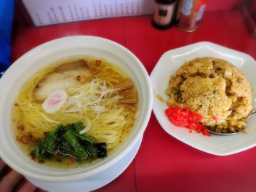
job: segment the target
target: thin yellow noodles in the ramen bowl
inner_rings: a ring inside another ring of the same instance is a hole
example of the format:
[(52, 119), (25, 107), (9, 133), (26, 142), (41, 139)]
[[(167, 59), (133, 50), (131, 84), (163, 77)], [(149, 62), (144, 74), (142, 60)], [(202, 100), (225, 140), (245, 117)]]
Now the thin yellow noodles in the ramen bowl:
[[(68, 99), (77, 103), (67, 101), (63, 109), (54, 114), (46, 113), (41, 106), (42, 103), (33, 100), (33, 88), (47, 73), (54, 71), (55, 65), (52, 68), (44, 68), (33, 76), (17, 95), (15, 106), (20, 111), (20, 119), (16, 122), (16, 126), (23, 124), (25, 133), (32, 132), (34, 137), (40, 138), (44, 132), (55, 129), (58, 124), (82, 121), (84, 127), (91, 124), (88, 135), (98, 142), (106, 142), (110, 151), (116, 148), (127, 137), (136, 114), (122, 105), (116, 105), (120, 97), (118, 95), (113, 97), (109, 89), (113, 89), (114, 84), (119, 81), (127, 79), (127, 75), (110, 63), (102, 61), (100, 68), (95, 66), (95, 60), (87, 63), (90, 70), (95, 73), (96, 79), (79, 88), (70, 89)], [(101, 100), (99, 97), (102, 97)], [(97, 108), (104, 110), (95, 111)]]

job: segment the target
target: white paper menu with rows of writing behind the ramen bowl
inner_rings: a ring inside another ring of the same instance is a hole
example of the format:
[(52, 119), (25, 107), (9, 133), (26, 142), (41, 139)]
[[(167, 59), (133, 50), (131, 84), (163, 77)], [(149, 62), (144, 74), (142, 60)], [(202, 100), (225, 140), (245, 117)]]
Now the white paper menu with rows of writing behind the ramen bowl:
[(153, 0), (21, 1), (35, 26), (153, 14)]

